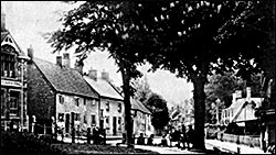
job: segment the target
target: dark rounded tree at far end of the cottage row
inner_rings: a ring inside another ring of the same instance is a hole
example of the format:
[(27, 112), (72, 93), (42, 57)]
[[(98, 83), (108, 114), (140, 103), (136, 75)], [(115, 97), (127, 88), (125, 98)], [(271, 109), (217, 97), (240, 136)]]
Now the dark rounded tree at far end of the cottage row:
[(152, 92), (151, 96), (146, 100), (145, 106), (152, 113), (151, 123), (155, 129), (162, 130), (170, 120), (167, 101), (161, 96)]

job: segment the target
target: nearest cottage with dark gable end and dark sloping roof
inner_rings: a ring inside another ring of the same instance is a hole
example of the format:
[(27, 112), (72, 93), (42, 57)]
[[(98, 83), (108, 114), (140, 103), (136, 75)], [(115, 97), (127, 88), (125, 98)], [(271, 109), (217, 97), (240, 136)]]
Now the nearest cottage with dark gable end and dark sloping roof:
[(70, 67), (70, 55), (57, 56), (56, 64), (34, 58), (33, 51), (28, 55), (28, 114), (36, 117), (36, 132), (52, 133), (53, 123), (67, 134), (98, 125), (98, 95)]

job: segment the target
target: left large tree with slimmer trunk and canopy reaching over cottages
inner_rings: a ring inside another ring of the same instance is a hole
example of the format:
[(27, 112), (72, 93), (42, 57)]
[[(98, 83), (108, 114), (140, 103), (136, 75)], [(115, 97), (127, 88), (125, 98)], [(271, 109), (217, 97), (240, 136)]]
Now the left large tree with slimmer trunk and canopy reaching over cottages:
[(125, 131), (129, 147), (132, 146), (130, 96), (134, 95), (130, 80), (140, 76), (136, 68), (144, 63), (140, 52), (150, 45), (144, 35), (146, 32), (139, 27), (140, 20), (134, 8), (134, 3), (128, 1), (84, 2), (61, 19), (63, 29), (52, 33), (49, 40), (54, 52), (76, 47), (78, 64), (96, 49), (108, 52), (115, 59), (123, 78)]

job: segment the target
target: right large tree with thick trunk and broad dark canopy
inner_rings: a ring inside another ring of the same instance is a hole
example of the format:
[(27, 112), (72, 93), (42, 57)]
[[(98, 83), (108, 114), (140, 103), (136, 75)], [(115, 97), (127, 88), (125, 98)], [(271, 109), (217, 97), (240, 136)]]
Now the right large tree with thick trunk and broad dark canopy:
[[(194, 147), (204, 150), (204, 85), (208, 75), (238, 69), (250, 80), (258, 71), (256, 58), (263, 54), (266, 33), (246, 23), (264, 26), (270, 14), (257, 14), (263, 3), (251, 1), (166, 1), (142, 3), (140, 16), (155, 41), (148, 60), (193, 82)], [(255, 58), (255, 59), (253, 59)], [(253, 63), (251, 60), (253, 59)]]

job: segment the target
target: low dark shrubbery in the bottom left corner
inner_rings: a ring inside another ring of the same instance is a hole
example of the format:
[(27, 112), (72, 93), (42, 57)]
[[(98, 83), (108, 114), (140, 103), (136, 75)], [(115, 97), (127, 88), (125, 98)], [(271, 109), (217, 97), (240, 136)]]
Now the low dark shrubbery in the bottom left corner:
[(4, 132), (1, 131), (1, 152), (24, 154), (60, 154), (61, 151), (51, 146), (56, 142), (50, 136), (36, 136), (32, 133)]

